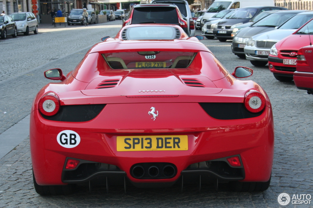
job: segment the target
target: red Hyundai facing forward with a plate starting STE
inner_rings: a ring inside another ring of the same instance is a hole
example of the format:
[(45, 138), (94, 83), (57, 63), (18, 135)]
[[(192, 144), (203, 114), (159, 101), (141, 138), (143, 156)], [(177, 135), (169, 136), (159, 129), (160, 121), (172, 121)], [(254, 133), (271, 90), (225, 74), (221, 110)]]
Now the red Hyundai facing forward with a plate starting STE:
[(298, 50), (310, 44), (313, 19), (305, 23), (290, 36), (278, 41), (269, 52), (269, 70), (279, 81), (292, 81), (296, 70)]

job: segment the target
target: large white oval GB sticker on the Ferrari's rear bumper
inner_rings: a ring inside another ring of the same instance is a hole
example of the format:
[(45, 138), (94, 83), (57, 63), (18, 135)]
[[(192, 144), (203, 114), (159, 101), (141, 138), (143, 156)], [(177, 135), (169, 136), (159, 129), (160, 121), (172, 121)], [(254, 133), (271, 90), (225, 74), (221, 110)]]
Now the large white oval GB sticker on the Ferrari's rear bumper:
[(72, 130), (64, 130), (58, 134), (57, 141), (62, 147), (73, 148), (79, 145), (80, 136)]

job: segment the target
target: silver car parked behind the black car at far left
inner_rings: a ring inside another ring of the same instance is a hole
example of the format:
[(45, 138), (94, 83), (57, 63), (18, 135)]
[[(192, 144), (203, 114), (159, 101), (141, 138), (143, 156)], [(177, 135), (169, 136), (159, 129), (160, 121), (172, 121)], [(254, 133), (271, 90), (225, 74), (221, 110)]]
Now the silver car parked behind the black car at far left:
[(18, 33), (24, 33), (28, 35), (33, 31), (34, 34), (38, 34), (38, 21), (35, 15), (31, 12), (14, 12), (10, 14), (13, 21), (18, 27)]

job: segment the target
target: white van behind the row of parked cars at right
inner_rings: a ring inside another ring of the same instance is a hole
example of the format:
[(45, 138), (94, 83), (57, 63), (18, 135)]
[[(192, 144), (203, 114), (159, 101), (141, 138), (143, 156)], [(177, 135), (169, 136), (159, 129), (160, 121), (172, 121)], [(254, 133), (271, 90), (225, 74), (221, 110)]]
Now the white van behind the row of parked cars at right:
[(224, 9), (237, 9), (250, 6), (275, 6), (274, 0), (215, 0), (204, 13), (201, 22), (213, 17)]

